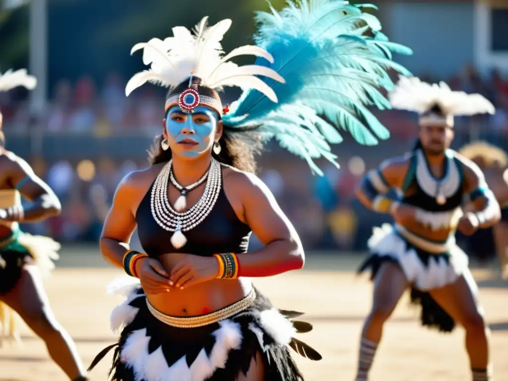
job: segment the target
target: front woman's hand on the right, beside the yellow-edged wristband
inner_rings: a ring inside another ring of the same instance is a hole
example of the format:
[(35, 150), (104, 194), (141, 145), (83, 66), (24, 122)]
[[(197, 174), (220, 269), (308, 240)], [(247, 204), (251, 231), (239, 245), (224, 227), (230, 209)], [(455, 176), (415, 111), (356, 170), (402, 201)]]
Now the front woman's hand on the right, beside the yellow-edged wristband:
[(169, 279), (175, 287), (184, 289), (194, 284), (206, 282), (217, 277), (219, 264), (215, 257), (200, 257), (187, 254), (171, 270)]

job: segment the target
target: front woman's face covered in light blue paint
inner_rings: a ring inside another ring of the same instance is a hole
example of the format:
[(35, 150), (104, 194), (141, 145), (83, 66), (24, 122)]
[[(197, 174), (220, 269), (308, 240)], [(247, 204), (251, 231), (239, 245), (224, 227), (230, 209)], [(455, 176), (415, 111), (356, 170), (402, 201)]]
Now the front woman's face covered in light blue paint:
[[(166, 131), (171, 150), (186, 157), (197, 157), (211, 149), (217, 129), (218, 114), (206, 106), (198, 106), (192, 114), (173, 106), (166, 115)], [(182, 141), (192, 140), (195, 144)]]

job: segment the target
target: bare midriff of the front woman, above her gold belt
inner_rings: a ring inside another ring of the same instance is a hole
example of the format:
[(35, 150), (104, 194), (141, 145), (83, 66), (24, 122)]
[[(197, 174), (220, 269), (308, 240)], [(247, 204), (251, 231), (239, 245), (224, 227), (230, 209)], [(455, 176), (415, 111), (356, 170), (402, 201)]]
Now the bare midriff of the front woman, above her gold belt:
[[(169, 253), (158, 260), (170, 273), (184, 257), (181, 253)], [(157, 310), (170, 316), (200, 316), (238, 302), (245, 298), (251, 289), (252, 284), (246, 280), (213, 279), (183, 290), (172, 287), (170, 292), (148, 295), (148, 300)]]

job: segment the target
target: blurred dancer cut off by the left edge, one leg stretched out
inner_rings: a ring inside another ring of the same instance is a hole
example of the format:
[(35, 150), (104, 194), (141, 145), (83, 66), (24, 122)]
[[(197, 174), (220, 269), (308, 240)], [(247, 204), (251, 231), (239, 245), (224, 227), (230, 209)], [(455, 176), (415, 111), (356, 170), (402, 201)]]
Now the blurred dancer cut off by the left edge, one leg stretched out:
[[(0, 76), (0, 90), (16, 86), (33, 89), (37, 80), (26, 70)], [(55, 320), (42, 284), (42, 275), (54, 268), (60, 245), (48, 237), (21, 232), (18, 223), (40, 221), (60, 213), (60, 202), (21, 157), (6, 150), (0, 114), (0, 310), (4, 336), (19, 340), (17, 314), (45, 342), (49, 355), (75, 381), (85, 370), (69, 334)], [(31, 201), (21, 205), (21, 196)], [(11, 310), (12, 308), (12, 310)], [(16, 313), (14, 313), (14, 311)]]

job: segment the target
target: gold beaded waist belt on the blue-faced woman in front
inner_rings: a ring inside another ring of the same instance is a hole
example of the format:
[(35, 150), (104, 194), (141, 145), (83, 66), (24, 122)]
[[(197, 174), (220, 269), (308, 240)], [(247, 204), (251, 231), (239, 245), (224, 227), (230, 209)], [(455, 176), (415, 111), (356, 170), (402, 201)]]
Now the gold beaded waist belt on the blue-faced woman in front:
[(206, 315), (192, 316), (192, 317), (177, 317), (167, 315), (150, 304), (146, 298), (146, 305), (150, 313), (159, 321), (172, 327), (177, 328), (197, 328), (207, 326), (209, 324), (220, 322), (221, 320), (228, 319), (229, 317), (243, 311), (250, 307), (256, 299), (256, 292), (254, 289), (243, 299), (233, 303), (227, 307), (221, 308), (218, 311), (207, 313)]

